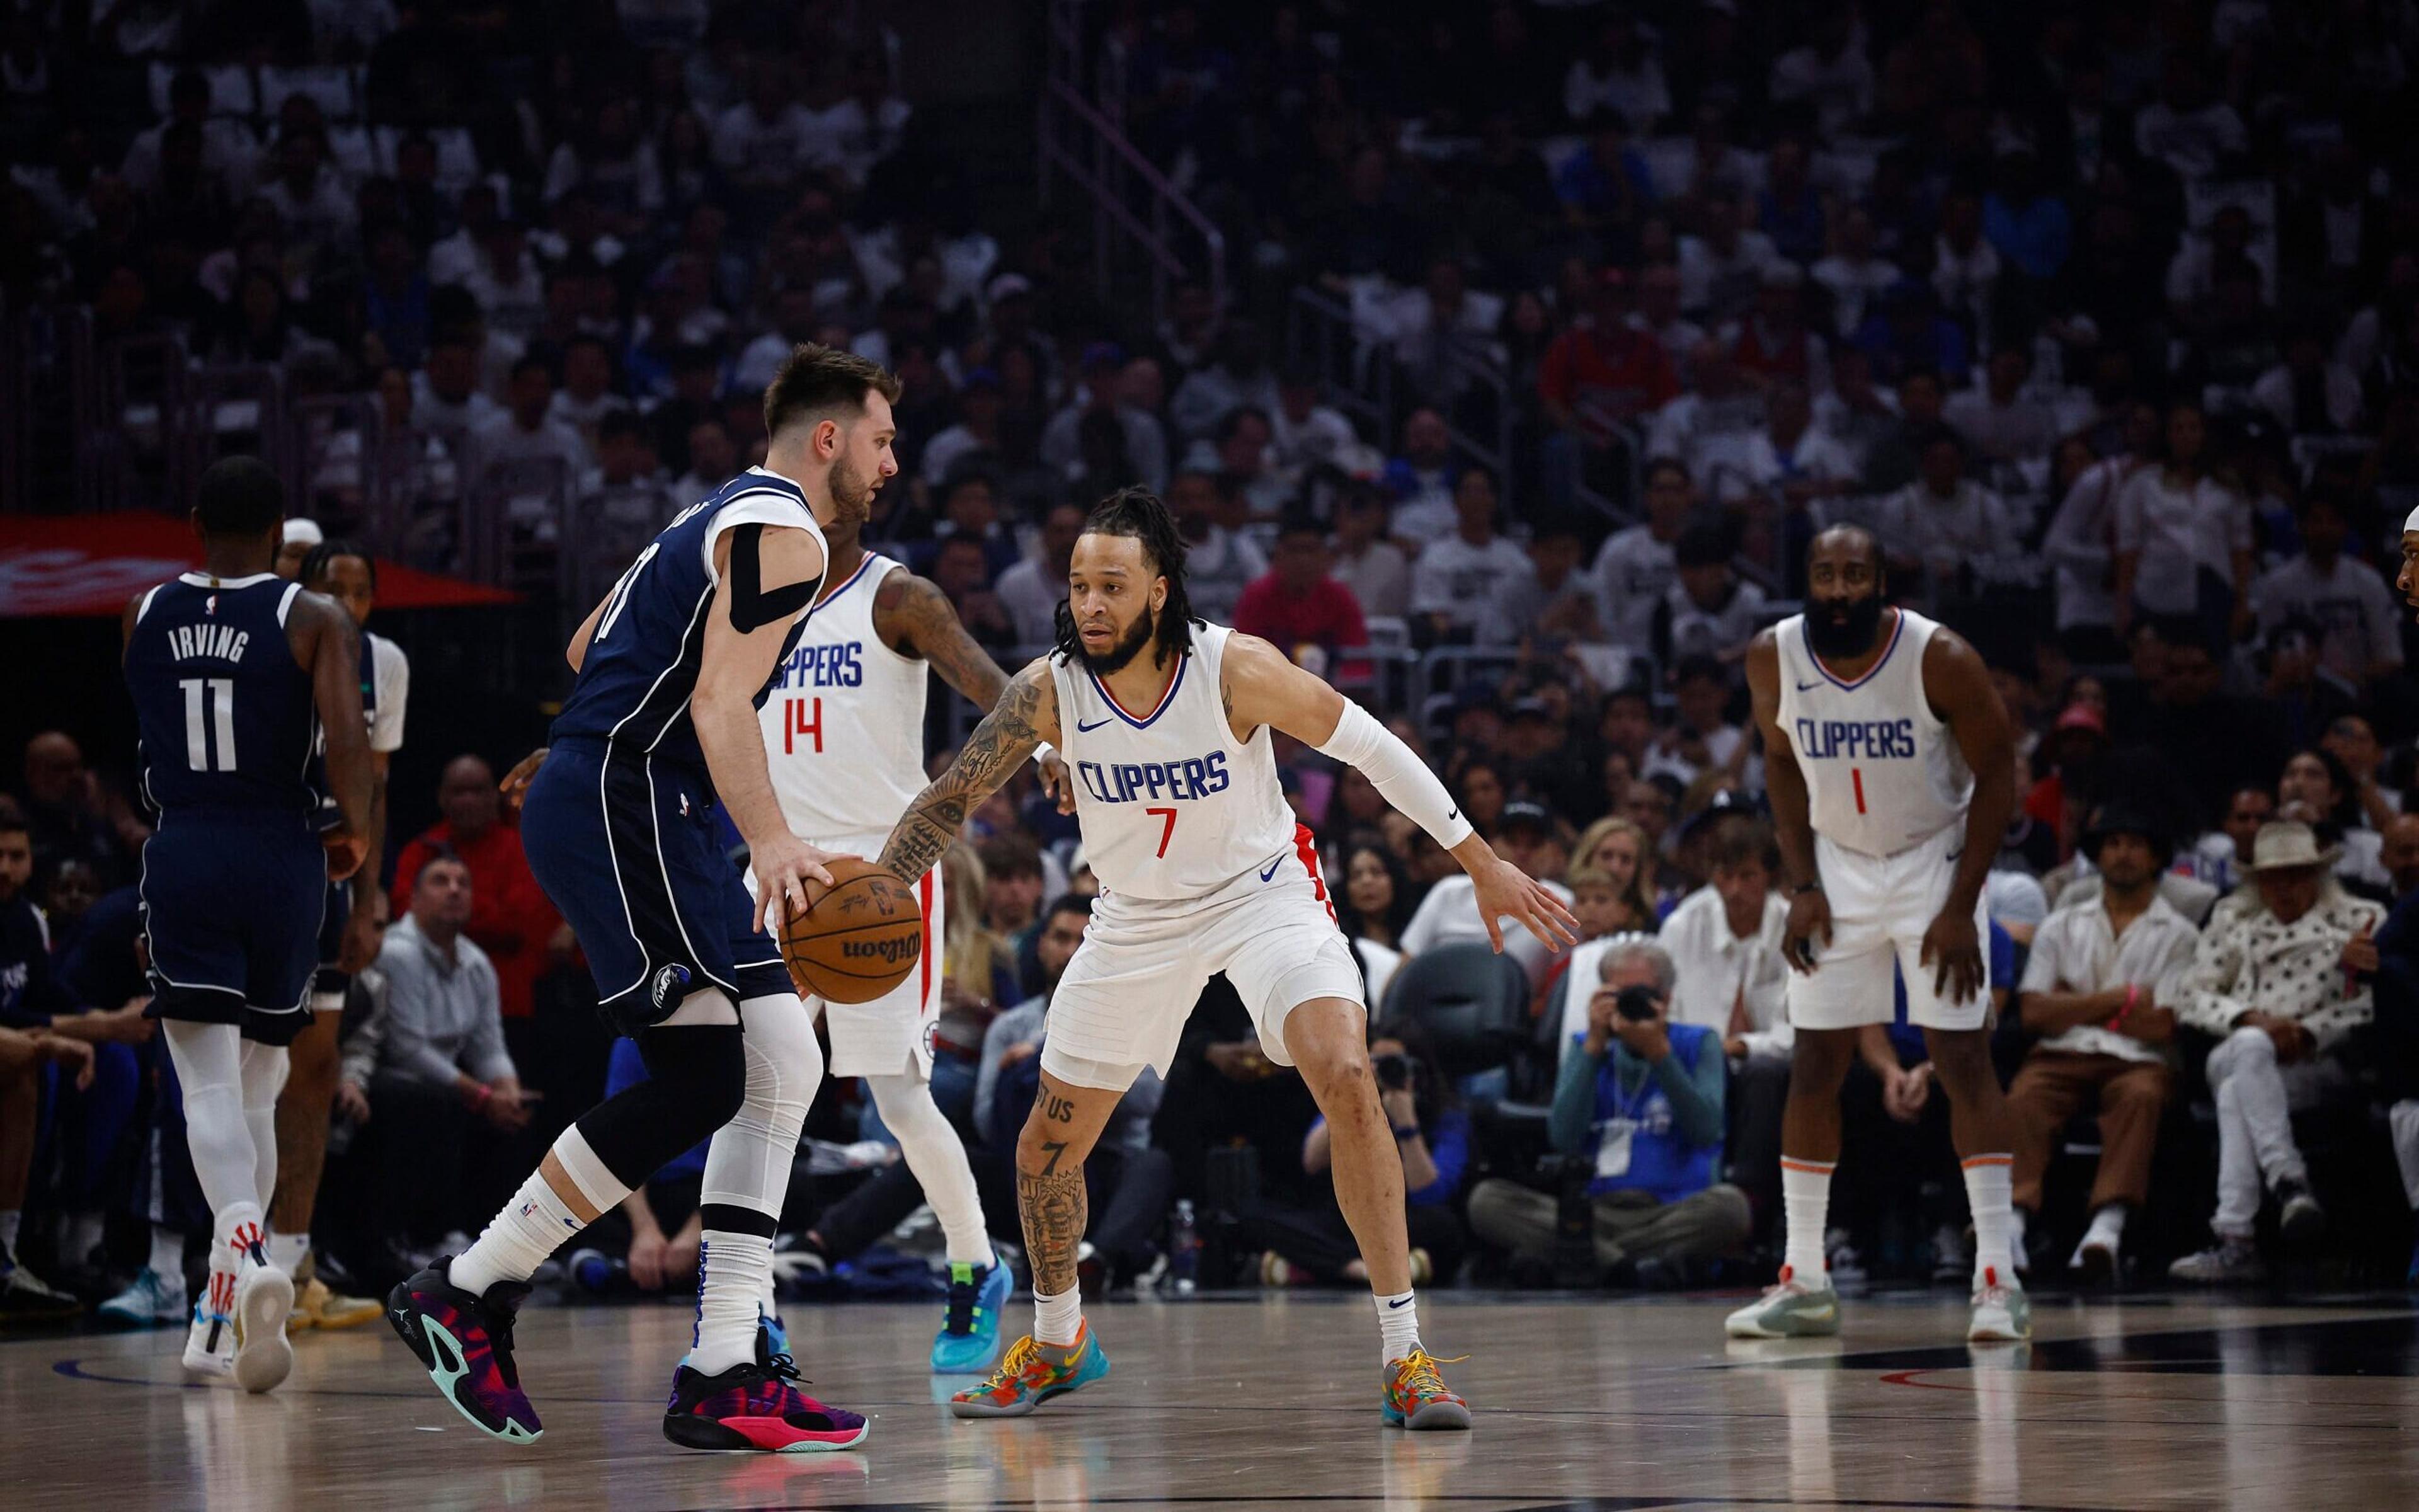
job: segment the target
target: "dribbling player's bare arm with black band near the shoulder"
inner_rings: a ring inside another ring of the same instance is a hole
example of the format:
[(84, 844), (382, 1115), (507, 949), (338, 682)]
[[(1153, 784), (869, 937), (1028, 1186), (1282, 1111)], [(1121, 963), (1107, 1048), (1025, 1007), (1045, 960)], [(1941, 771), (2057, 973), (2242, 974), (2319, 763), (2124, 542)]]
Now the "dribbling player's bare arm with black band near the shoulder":
[(791, 835), (781, 818), (755, 709), (781, 660), (789, 627), (822, 583), (822, 542), (808, 530), (733, 525), (714, 542), (714, 576), (689, 721), (714, 791), (747, 842), (757, 873), (755, 922), (762, 929), (774, 898), (803, 905), (806, 878), (832, 885), (825, 854)]

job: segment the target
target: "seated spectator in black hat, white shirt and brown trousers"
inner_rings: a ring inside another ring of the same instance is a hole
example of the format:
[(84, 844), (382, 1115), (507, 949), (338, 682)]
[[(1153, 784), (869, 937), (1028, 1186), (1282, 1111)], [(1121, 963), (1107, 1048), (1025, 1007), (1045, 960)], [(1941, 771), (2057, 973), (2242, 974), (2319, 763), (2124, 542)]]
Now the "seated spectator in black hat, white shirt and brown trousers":
[(2114, 1277), (2124, 1222), (2150, 1195), (2158, 1123), (2175, 1096), (2167, 1043), (2199, 929), (2160, 898), (2175, 854), (2165, 827), (2124, 806), (2092, 815), (2083, 849), (2097, 898), (2059, 907), (2032, 936), (2025, 1031), (2039, 1035), (2008, 1086), (2015, 1125), (2015, 1265), (2027, 1270), (2025, 1222), (2042, 1210), (2042, 1173), (2076, 1113), (2100, 1115), (2100, 1171), (2090, 1229), (2068, 1260)]

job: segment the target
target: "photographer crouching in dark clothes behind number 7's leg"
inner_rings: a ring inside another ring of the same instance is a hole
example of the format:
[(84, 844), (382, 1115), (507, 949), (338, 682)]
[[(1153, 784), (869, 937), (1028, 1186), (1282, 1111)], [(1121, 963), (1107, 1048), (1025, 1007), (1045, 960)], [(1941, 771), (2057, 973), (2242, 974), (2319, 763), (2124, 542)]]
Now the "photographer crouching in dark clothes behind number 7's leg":
[[(1369, 1038), (1376, 1098), (1393, 1125), (1393, 1149), (1403, 1156), (1403, 1222), (1410, 1229), (1410, 1275), (1418, 1285), (1451, 1285), (1468, 1236), (1454, 1214), (1461, 1173), (1471, 1164), (1471, 1118), (1454, 1084), (1437, 1067), (1427, 1031), (1418, 1023), (1381, 1023)], [(1352, 1229), (1330, 1185), (1328, 1120), (1311, 1123), (1301, 1139), (1301, 1171), (1318, 1195), (1304, 1207), (1253, 1202), (1243, 1210), (1243, 1241), (1260, 1246), (1260, 1282), (1367, 1282)]]

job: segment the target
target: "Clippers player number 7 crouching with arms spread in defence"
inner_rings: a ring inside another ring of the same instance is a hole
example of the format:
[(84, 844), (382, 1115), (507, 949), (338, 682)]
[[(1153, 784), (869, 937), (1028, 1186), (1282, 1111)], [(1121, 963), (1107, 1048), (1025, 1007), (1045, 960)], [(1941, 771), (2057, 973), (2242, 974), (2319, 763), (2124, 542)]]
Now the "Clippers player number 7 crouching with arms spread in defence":
[(1040, 1096), (1016, 1144), (1033, 1335), (989, 1381), (951, 1398), (960, 1418), (1016, 1418), (1108, 1374), (1076, 1292), (1084, 1156), (1142, 1067), (1166, 1074), (1202, 985), (1226, 973), (1260, 1050), (1301, 1069), (1335, 1135), (1335, 1195), (1376, 1294), (1386, 1422), (1471, 1425), (1420, 1347), (1396, 1152), (1413, 1130), (1389, 1130), (1379, 1106), (1362, 975), (1311, 835), (1277, 786), (1270, 728), (1359, 767), (1434, 835), (1471, 873), (1497, 951), (1502, 917), (1551, 948), (1577, 941), (1570, 910), (1488, 849), (1408, 745), (1268, 641), (1190, 614), (1185, 542), (1159, 498), (1127, 489), (1096, 506), (1057, 610), (1057, 651), (1009, 682), (883, 847), (885, 868), (924, 876), (965, 815), (1047, 740), (1074, 774), (1101, 878), (1050, 999)]

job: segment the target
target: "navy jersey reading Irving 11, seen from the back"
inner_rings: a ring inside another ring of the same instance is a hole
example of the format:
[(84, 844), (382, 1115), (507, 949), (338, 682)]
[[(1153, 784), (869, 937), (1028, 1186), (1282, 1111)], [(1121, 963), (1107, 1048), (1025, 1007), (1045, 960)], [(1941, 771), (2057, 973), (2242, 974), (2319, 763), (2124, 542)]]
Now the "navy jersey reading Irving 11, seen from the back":
[(310, 813), (319, 709), (285, 614), (300, 585), (276, 573), (184, 573), (143, 595), (126, 689), (143, 733), (143, 793), (160, 813)]

